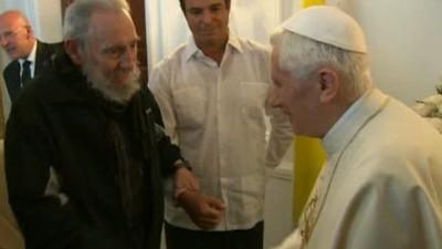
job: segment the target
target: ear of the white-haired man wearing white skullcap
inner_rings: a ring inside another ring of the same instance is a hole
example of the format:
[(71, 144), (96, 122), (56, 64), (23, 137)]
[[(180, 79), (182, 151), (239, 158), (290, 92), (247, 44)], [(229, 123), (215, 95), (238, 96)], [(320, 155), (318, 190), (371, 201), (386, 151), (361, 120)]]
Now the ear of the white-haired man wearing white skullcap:
[(328, 68), (320, 69), (318, 74), (320, 85), (319, 101), (322, 103), (329, 103), (338, 95), (340, 87), (339, 76), (336, 71)]

